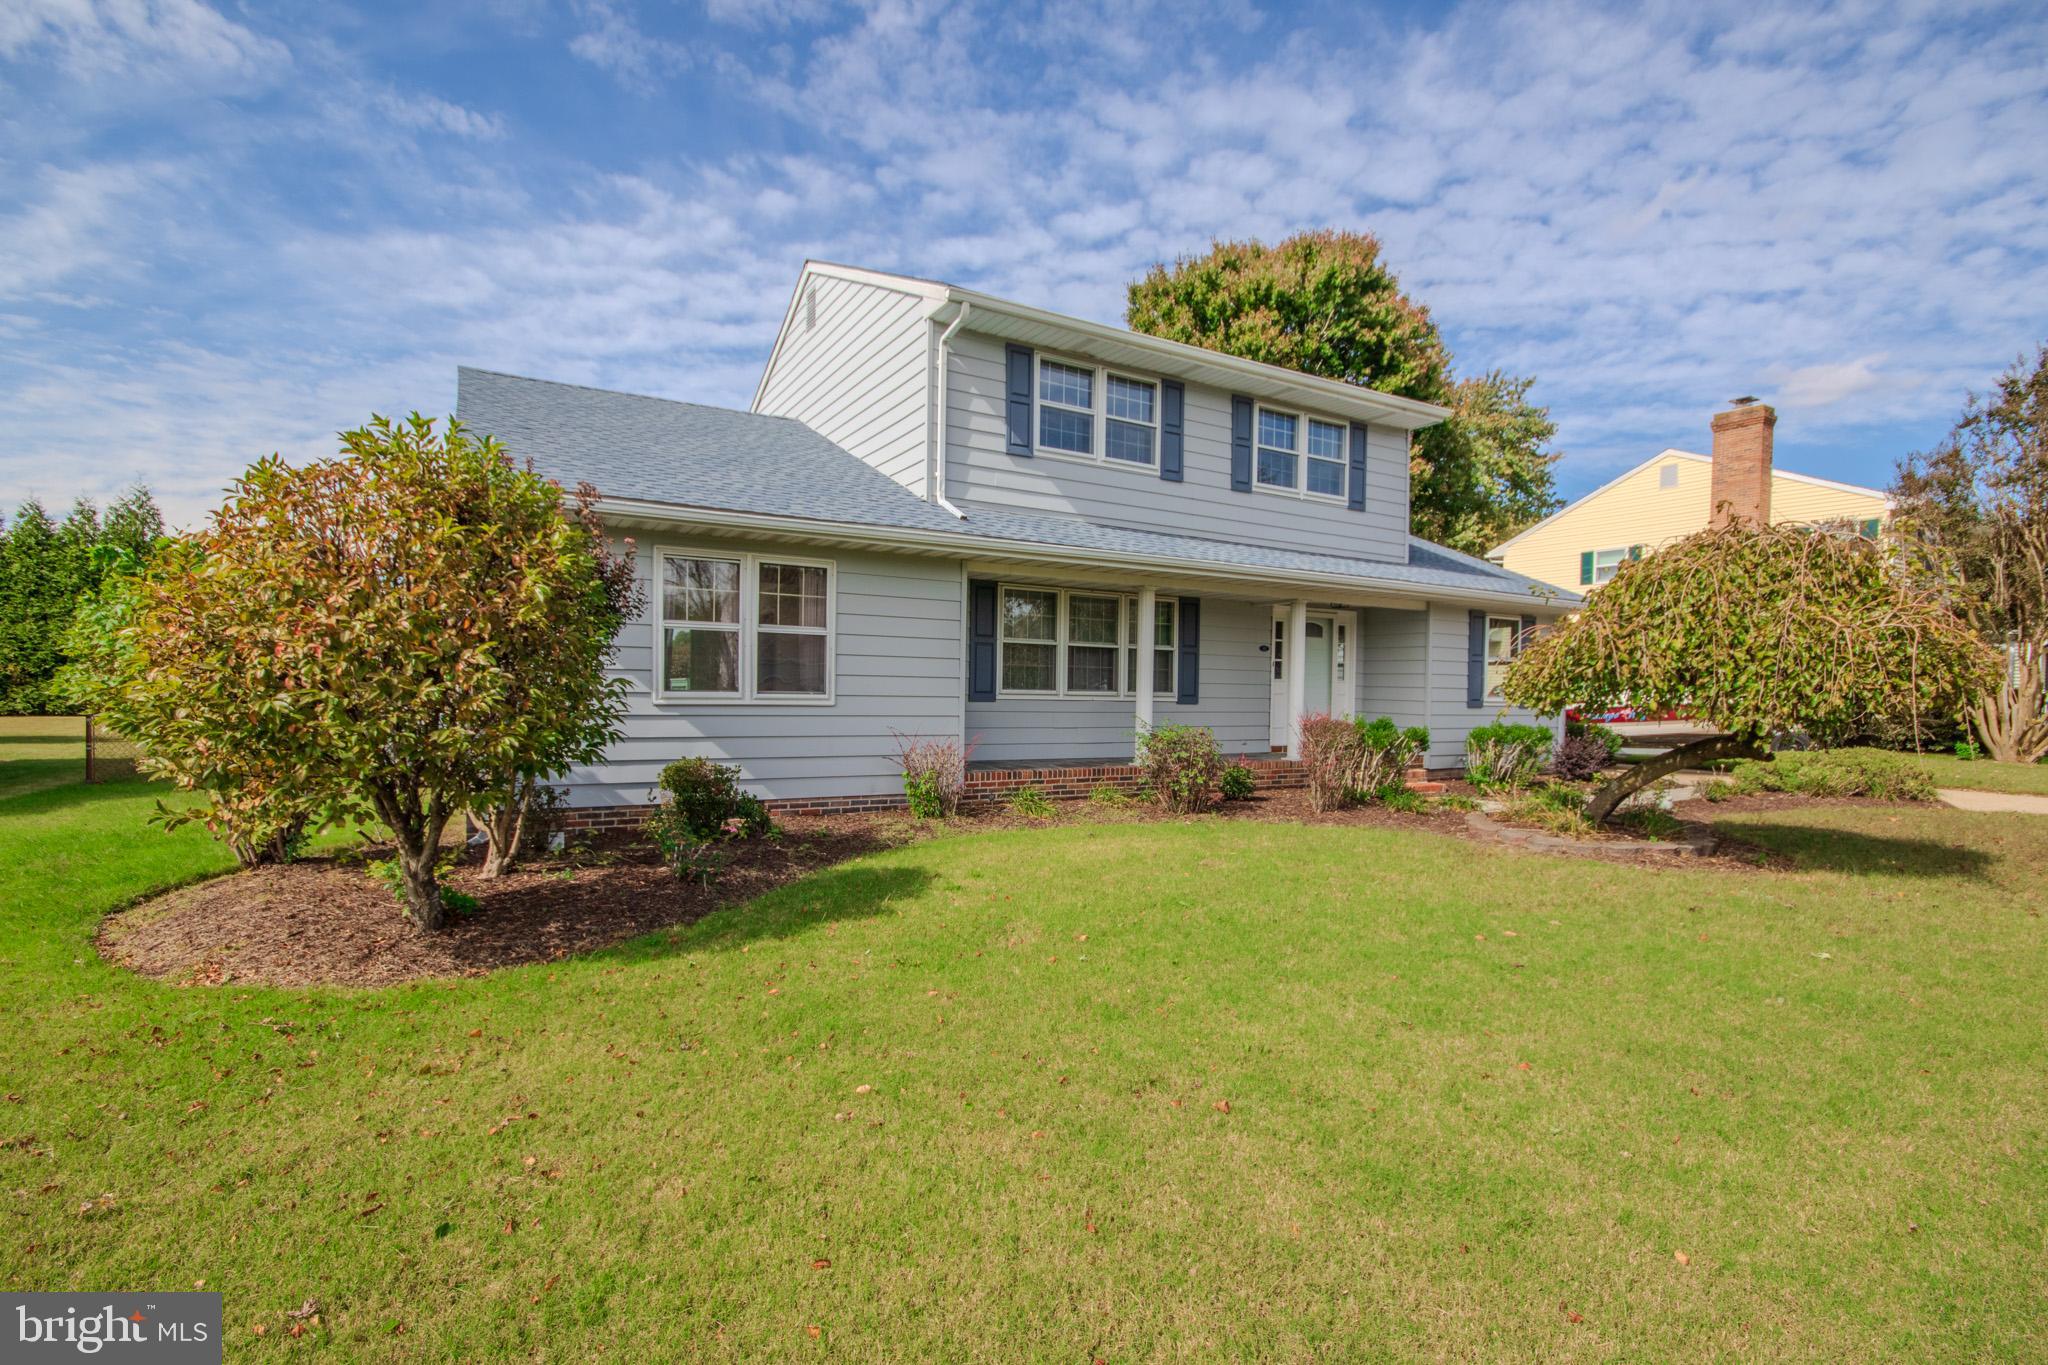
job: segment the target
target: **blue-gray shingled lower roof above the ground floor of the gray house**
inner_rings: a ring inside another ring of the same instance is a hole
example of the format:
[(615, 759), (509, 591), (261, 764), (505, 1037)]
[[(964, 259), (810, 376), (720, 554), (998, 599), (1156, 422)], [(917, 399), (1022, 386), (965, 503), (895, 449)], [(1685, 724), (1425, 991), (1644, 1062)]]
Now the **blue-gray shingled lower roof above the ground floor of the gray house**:
[[(958, 520), (793, 417), (469, 366), (457, 372), (455, 409), (467, 426), (500, 438), (563, 487), (588, 481), (608, 497), (1182, 559), (1219, 569), (1317, 573), (1362, 583), (1505, 596), (1528, 596), (1534, 587), (1534, 579), (1520, 573), (1413, 536), (1409, 563), (1397, 565), (1036, 512), (971, 508), (967, 520)], [(1565, 598), (1567, 606), (1571, 602)]]

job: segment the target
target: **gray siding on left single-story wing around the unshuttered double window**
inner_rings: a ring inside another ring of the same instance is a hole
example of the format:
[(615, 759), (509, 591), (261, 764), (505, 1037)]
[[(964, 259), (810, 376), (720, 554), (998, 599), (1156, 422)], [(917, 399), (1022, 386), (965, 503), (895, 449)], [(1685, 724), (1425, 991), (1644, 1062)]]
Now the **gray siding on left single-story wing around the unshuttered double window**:
[(901, 790), (895, 733), (961, 733), (963, 587), (954, 561), (838, 548), (711, 540), (686, 532), (635, 532), (643, 585), (657, 546), (776, 551), (838, 569), (836, 688), (819, 704), (688, 704), (653, 696), (653, 612), (618, 636), (614, 671), (633, 692), (625, 737), (596, 767), (569, 774), (578, 806), (645, 804), (664, 763), (709, 757), (739, 765), (743, 786), (768, 800), (874, 796)]

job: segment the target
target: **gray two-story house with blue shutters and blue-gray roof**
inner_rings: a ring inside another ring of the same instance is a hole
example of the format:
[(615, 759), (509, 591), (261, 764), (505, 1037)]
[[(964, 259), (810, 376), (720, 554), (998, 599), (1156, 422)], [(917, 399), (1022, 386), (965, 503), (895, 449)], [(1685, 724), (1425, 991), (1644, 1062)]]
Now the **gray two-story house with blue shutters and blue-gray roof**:
[(649, 589), (586, 825), (682, 755), (782, 806), (901, 802), (905, 735), (971, 743), (991, 794), (1135, 782), (1167, 722), (1284, 780), (1309, 712), (1458, 765), (1577, 606), (1409, 534), (1442, 407), (874, 270), (805, 266), (752, 411), (477, 368), (457, 411), (592, 483)]

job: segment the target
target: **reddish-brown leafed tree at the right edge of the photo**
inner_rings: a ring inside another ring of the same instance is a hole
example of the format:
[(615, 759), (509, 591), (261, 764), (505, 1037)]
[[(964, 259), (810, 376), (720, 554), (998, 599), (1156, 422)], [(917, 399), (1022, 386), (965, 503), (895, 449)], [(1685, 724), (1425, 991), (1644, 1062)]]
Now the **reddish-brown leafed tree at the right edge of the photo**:
[(2048, 346), (1972, 395), (1933, 450), (1898, 467), (1892, 530), (1913, 565), (2005, 655), (1964, 708), (1985, 753), (2048, 755)]

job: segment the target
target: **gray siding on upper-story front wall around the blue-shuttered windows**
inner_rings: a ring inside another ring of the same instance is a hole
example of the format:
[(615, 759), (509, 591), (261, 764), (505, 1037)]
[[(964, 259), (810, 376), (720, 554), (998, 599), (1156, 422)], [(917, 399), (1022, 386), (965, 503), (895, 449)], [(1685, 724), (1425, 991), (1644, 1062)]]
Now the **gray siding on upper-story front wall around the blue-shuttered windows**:
[[(961, 505), (1055, 512), (1212, 540), (1407, 561), (1405, 432), (1370, 428), (1366, 510), (1352, 512), (1339, 503), (1257, 489), (1233, 493), (1231, 395), (1225, 389), (1188, 385), (1184, 479), (1169, 483), (1157, 467), (1008, 454), (1004, 344), (963, 332), (952, 340), (950, 368), (946, 497)], [(1143, 372), (1137, 377), (1145, 379)]]

